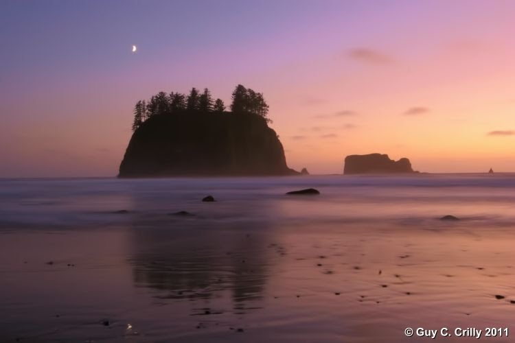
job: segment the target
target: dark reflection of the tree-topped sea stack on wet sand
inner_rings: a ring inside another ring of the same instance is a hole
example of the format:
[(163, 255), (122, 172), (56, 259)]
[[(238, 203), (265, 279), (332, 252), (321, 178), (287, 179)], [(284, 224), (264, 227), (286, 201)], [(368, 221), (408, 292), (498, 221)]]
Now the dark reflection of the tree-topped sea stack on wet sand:
[(235, 314), (260, 307), (270, 263), (266, 227), (198, 217), (171, 218), (168, 228), (141, 230), (140, 224), (131, 233), (129, 259), (137, 287), (153, 289), (161, 300), (203, 300), (202, 308), (231, 298)]

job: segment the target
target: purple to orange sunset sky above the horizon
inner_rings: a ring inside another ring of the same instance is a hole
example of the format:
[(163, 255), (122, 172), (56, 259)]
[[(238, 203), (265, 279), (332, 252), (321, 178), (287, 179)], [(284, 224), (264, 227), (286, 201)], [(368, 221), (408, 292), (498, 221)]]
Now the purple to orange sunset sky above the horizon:
[[(159, 91), (264, 93), (289, 167), (515, 171), (515, 1), (0, 1), (0, 178), (115, 176)], [(137, 52), (131, 48), (137, 45)]]

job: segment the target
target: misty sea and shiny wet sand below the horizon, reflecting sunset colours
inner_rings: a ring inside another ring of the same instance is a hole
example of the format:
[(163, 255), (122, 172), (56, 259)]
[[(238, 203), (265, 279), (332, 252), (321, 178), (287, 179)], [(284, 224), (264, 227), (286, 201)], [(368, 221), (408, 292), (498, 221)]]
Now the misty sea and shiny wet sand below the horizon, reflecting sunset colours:
[(514, 244), (515, 174), (0, 180), (0, 342), (510, 327)]

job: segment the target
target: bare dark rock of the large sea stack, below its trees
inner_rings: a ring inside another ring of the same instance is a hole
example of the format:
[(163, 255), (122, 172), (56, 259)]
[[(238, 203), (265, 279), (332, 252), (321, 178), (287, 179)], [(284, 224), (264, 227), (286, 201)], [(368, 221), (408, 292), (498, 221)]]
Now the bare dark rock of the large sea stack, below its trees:
[(177, 113), (145, 121), (130, 139), (119, 177), (297, 174), (277, 134), (249, 113)]

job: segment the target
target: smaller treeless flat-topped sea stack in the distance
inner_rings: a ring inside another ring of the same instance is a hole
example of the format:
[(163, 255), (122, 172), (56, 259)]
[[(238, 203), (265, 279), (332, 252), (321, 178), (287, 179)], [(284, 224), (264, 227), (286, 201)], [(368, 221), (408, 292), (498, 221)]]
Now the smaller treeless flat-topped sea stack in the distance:
[(391, 160), (387, 154), (350, 155), (345, 157), (343, 174), (414, 173), (408, 158)]

